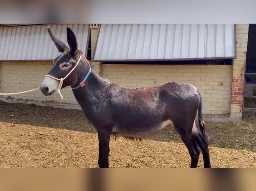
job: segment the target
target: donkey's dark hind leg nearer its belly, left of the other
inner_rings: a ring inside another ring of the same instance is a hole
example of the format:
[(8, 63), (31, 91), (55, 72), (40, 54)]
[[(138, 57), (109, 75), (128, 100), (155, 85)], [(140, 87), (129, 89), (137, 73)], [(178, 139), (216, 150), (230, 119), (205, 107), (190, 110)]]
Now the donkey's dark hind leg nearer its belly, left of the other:
[(191, 157), (190, 167), (196, 168), (199, 160), (200, 148), (191, 132), (191, 126), (192, 125), (185, 124), (184, 122), (174, 123), (174, 128), (179, 133)]

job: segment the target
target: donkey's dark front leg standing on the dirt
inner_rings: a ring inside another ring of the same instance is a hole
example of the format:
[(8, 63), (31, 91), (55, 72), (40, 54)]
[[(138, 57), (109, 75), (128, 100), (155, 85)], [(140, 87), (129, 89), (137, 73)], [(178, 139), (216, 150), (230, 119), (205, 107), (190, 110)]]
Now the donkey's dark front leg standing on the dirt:
[(111, 130), (99, 129), (98, 139), (99, 139), (99, 160), (98, 164), (100, 168), (109, 167), (109, 141), (111, 136)]

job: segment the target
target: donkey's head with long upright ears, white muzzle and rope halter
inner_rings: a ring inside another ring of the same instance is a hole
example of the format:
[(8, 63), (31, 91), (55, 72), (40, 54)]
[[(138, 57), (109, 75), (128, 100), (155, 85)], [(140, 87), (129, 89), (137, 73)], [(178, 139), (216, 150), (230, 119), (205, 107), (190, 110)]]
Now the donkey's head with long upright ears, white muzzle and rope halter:
[[(54, 59), (53, 66), (47, 74), (50, 77), (46, 76), (41, 84), (41, 92), (44, 95), (52, 95), (54, 90), (58, 88), (60, 82), (57, 79), (65, 78), (66, 75), (69, 74), (77, 64), (79, 64), (79, 62), (83, 61), (80, 60), (82, 53), (78, 48), (76, 35), (69, 27), (67, 27), (67, 40), (69, 47), (52, 34), (49, 27), (47, 30), (58, 51), (61, 53)], [(61, 89), (76, 84), (77, 70), (78, 69), (76, 68), (66, 79), (63, 80)]]

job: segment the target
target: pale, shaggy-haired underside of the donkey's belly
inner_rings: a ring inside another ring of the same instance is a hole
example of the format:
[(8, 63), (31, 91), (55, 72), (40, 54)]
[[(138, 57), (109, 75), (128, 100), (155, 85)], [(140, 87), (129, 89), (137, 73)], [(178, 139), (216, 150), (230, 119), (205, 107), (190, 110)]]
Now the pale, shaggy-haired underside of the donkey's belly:
[(147, 126), (121, 126), (115, 125), (113, 132), (117, 132), (120, 135), (134, 138), (146, 138), (157, 135), (162, 128), (171, 124), (170, 120), (161, 121), (157, 124), (147, 125)]

